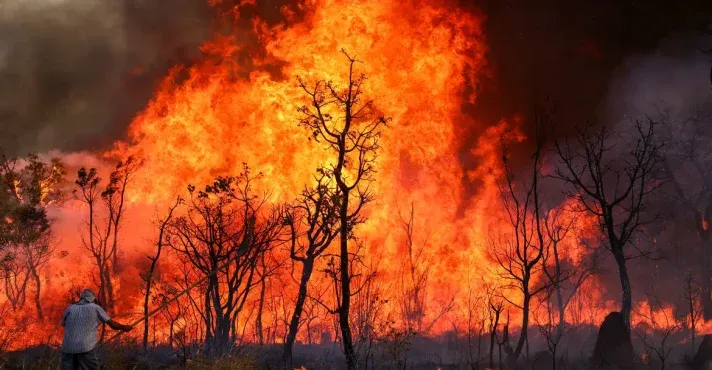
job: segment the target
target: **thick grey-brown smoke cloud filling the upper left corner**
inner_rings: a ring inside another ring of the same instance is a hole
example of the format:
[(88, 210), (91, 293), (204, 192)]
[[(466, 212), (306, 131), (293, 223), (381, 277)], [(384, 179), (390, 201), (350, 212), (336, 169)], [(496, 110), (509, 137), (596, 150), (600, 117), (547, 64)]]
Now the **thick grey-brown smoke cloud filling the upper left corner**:
[(199, 56), (212, 16), (193, 0), (2, 1), (0, 147), (71, 151), (120, 138), (160, 76)]

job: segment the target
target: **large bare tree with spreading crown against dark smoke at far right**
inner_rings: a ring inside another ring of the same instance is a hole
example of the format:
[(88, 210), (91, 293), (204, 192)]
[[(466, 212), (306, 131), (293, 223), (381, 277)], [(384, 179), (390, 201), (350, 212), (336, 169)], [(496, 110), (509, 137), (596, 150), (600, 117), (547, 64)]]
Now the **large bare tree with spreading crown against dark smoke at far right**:
[[(578, 201), (582, 211), (598, 218), (605, 233), (606, 247), (618, 266), (621, 313), (628, 330), (632, 298), (626, 263), (631, 258), (651, 257), (635, 244), (633, 236), (652, 221), (652, 217), (646, 218), (649, 196), (662, 185), (653, 177), (661, 148), (655, 129), (652, 121), (636, 122), (635, 143), (627, 153), (613, 152), (613, 132), (605, 126), (579, 129), (577, 148), (568, 140), (557, 140), (555, 145), (559, 158), (556, 177), (570, 186), (567, 194)], [(638, 253), (630, 253), (631, 248)]]

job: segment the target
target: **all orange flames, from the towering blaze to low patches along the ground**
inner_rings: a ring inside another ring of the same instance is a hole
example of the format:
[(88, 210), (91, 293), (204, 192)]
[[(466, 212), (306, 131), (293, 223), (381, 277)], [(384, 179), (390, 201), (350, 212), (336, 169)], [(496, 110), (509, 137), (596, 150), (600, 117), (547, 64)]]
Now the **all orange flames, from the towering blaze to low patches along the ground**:
[[(498, 140), (503, 130), (517, 127), (503, 121), (488, 128), (462, 112), (463, 104), (477, 103), (473, 86), (487, 73), (484, 15), (448, 4), (305, 0), (285, 7), (285, 24), (252, 21), (249, 33), (259, 41), (259, 50), (244, 43), (242, 35), (216, 35), (202, 46), (200, 63), (172, 69), (131, 123), (125, 142), (99, 156), (64, 155), (70, 167), (94, 166), (104, 178), (110, 160), (129, 155), (143, 160), (127, 191), (126, 223), (120, 234), (122, 262), (113, 282), (119, 297), (114, 311), (126, 314), (127, 320), (141, 316), (141, 274), (149, 263), (146, 255), (154, 254), (155, 220), (163, 217), (178, 194), (185, 195), (188, 185), (202, 187), (216, 176), (237, 175), (243, 163), (262, 174), (255, 188), (269, 193), (272, 205), (292, 201), (312, 184), (316, 169), (329, 157), (322, 143), (309, 140), (309, 132), (298, 126), (297, 108), (307, 101), (297, 77), (344, 85), (348, 64), (341, 50), (346, 50), (360, 61), (358, 72), (367, 76), (364, 95), (392, 119), (383, 131), (376, 161), (375, 201), (365, 210), (367, 222), (356, 231), (363, 243), (364, 266), (377, 271), (374, 291), (364, 291), (356, 305), (383, 302), (379, 324), (417, 325), (425, 335), (479, 325), (473, 315), (482, 320), (486, 313), (475, 302), (488, 294), (489, 285), (502, 284), (496, 264), (487, 255), (488, 238), (506, 234), (509, 227), (497, 187), (502, 175)], [(238, 19), (240, 10), (237, 7), (224, 16)], [(249, 63), (245, 55), (251, 58)], [(463, 148), (460, 134), (472, 127), (479, 129), (480, 138), (473, 147)], [(526, 139), (519, 134), (517, 140)], [(479, 160), (467, 172), (459, 159), (463, 150)], [(464, 185), (472, 179), (479, 184), (474, 194)], [(411, 210), (409, 233), (404, 221)], [(68, 201), (53, 209), (52, 216), (57, 220), (55, 234), (62, 256), (52, 259), (42, 273), (47, 319), (37, 320), (31, 309), (0, 319), (23, 328), (22, 339), (13, 348), (58, 343), (59, 320), (54, 318), (64, 309), (68, 292), (94, 283), (93, 266), (84, 262), (86, 252), (77, 233), (86, 217), (85, 207)], [(576, 265), (585, 248), (581, 240), (595, 234), (597, 225), (579, 215), (562, 217), (576, 220), (576, 232), (562, 242), (564, 258)], [(279, 267), (264, 285), (262, 332), (255, 324), (259, 286), (247, 299), (249, 309), (237, 320), (247, 342), (280, 343), (286, 336), (299, 271), (292, 268), (283, 248), (276, 248), (270, 258), (279, 261)], [(323, 269), (327, 259), (319, 263)], [(170, 254), (160, 261), (157, 295), (177, 289), (172, 279), (180, 267), (181, 262)], [(323, 275), (315, 273), (310, 289), (330, 294)], [(404, 319), (402, 296), (413, 294), (415, 275), (427, 276), (418, 293), (425, 304), (418, 308), (419, 314), (411, 312)], [(572, 300), (567, 321), (595, 325), (615, 310), (617, 303), (605, 301), (600, 290), (595, 278), (586, 281), (580, 290), (584, 293)], [(510, 293), (506, 293), (509, 300), (521, 299), (516, 291)], [(169, 338), (200, 338), (199, 319), (173, 317), (182, 315), (181, 306), (189, 306), (189, 299), (199, 300), (200, 294), (195, 292), (195, 297), (185, 297), (157, 315), (151, 338), (164, 343)], [(153, 299), (151, 306), (160, 304), (160, 299)], [(314, 312), (321, 309), (313, 303), (309, 307)], [(532, 321), (546, 320), (545, 309), (541, 310), (535, 310)], [(641, 303), (637, 310), (672, 317), (670, 307), (655, 310)], [(507, 316), (516, 328), (517, 311), (512, 309)], [(298, 340), (319, 342), (328, 335), (333, 338), (334, 332), (332, 318), (322, 313), (305, 325)], [(132, 336), (138, 338), (140, 333), (127, 335)]]

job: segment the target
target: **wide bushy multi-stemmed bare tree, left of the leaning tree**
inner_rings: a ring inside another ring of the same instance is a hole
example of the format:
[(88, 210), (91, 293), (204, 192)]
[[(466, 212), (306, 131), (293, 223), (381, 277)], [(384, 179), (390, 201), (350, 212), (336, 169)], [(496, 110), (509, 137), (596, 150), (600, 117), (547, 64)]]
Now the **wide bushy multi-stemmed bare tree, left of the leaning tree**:
[(218, 177), (205, 190), (190, 186), (186, 214), (169, 229), (167, 244), (206, 279), (202, 315), (211, 355), (237, 339), (237, 316), (259, 284), (260, 258), (282, 231), (281, 208), (266, 209), (268, 197), (254, 193), (253, 181), (245, 165), (241, 175)]

